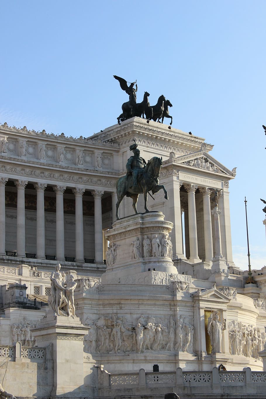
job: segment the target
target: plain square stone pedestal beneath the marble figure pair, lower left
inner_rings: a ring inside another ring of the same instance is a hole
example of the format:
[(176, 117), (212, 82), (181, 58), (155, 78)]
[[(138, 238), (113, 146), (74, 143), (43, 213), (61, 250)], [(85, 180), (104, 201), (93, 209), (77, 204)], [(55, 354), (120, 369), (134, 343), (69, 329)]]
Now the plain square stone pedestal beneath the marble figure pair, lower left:
[[(54, 316), (49, 310), (40, 325), (32, 331), (36, 345), (52, 344), (53, 389), (51, 397), (85, 396), (83, 375), (83, 337), (88, 328), (78, 317)], [(48, 348), (47, 348), (48, 350)]]

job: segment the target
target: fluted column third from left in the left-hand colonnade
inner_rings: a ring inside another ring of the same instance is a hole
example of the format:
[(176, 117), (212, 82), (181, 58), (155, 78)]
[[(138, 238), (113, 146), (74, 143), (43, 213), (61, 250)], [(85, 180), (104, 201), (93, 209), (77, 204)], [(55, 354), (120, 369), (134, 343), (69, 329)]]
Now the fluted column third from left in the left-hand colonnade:
[(45, 226), (44, 226), (44, 190), (47, 184), (36, 183), (37, 191), (37, 222), (36, 222), (36, 257), (45, 259)]

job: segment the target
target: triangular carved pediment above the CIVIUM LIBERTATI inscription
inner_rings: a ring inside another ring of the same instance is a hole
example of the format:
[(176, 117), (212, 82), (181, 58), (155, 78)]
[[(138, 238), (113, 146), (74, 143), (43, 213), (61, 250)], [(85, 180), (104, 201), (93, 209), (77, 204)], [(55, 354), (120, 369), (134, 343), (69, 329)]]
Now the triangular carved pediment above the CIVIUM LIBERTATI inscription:
[(192, 169), (200, 169), (206, 172), (215, 172), (234, 177), (236, 175), (236, 168), (229, 170), (217, 161), (206, 151), (192, 152), (191, 154), (178, 156), (175, 162), (183, 164)]

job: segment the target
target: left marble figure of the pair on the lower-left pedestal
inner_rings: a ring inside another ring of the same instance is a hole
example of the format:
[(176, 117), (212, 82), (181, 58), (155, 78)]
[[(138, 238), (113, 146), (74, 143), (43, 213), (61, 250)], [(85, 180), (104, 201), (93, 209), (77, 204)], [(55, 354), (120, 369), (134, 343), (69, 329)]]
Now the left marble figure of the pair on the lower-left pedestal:
[(51, 296), (49, 304), (53, 311), (55, 312), (55, 316), (66, 316), (63, 311), (63, 307), (67, 305), (67, 299), (65, 298), (65, 273), (60, 271), (61, 265), (57, 263), (55, 266), (55, 271), (51, 274)]

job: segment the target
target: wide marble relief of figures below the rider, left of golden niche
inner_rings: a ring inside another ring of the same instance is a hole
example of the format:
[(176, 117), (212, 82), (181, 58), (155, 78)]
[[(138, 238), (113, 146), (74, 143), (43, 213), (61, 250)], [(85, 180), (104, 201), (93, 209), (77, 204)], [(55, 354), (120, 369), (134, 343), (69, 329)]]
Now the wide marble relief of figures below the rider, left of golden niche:
[(184, 316), (176, 322), (173, 316), (164, 324), (154, 317), (143, 315), (135, 324), (124, 318), (101, 317), (89, 325), (84, 337), (84, 350), (88, 353), (118, 353), (153, 351), (182, 351), (193, 354), (194, 327)]

